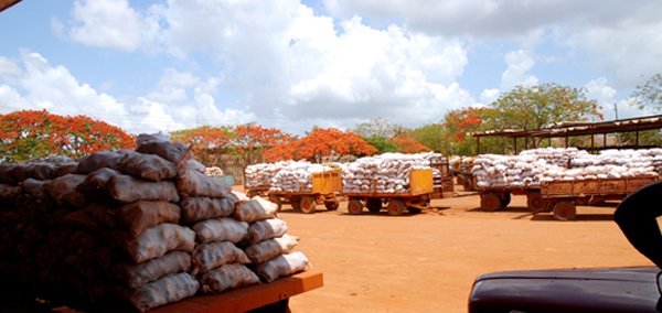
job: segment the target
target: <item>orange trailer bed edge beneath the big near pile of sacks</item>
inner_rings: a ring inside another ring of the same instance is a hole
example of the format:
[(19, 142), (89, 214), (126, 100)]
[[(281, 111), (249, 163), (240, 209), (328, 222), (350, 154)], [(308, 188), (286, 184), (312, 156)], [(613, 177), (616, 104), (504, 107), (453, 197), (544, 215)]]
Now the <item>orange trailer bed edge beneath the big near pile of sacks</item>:
[(246, 312), (276, 303), (290, 296), (321, 288), (323, 276), (306, 271), (278, 279), (271, 283), (250, 285), (221, 294), (197, 295), (184, 299), (153, 311), (152, 313), (207, 313)]

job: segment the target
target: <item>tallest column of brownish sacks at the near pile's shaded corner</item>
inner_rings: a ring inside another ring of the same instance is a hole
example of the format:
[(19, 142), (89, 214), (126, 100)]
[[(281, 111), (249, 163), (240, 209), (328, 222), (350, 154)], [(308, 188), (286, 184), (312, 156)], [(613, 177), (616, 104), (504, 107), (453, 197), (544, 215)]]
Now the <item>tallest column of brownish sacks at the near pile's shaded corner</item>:
[(107, 247), (99, 263), (122, 284), (114, 291), (147, 311), (192, 296), (200, 287), (188, 273), (195, 234), (179, 225), (182, 212), (175, 185), (175, 180), (200, 166), (189, 162), (185, 145), (150, 136), (138, 142), (136, 152), (120, 158), (99, 152), (81, 160), (78, 171), (89, 174), (78, 190), (97, 201), (84, 212), (110, 229), (114, 246)]

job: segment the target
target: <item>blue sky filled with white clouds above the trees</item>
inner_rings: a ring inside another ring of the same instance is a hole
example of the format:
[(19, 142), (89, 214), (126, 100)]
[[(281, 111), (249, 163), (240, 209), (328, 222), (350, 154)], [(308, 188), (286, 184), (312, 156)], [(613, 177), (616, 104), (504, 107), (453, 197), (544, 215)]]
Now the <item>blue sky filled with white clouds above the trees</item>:
[(662, 73), (662, 2), (23, 0), (0, 14), (0, 114), (132, 133), (258, 122), (405, 127), (517, 85), (586, 88), (605, 117)]

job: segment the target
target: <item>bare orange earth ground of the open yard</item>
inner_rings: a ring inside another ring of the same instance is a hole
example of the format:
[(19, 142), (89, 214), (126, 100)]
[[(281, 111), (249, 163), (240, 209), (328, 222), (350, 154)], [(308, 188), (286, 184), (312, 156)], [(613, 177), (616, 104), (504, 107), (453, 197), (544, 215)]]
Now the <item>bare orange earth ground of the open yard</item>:
[(481, 273), (652, 265), (612, 222), (618, 203), (580, 206), (576, 222), (557, 222), (528, 214), (525, 196), (487, 213), (476, 193), (457, 190), (433, 201), (442, 215), (354, 216), (346, 202), (312, 215), (284, 206), (297, 250), (324, 276), (324, 287), (290, 299), (292, 312), (466, 312)]

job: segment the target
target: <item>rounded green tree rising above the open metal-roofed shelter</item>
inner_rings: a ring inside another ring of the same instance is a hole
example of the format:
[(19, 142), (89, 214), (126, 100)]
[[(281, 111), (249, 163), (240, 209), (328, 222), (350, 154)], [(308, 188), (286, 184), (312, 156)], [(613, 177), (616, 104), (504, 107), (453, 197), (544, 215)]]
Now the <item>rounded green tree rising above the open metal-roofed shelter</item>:
[[(491, 125), (496, 129), (541, 129), (554, 122), (601, 120), (601, 108), (586, 98), (586, 90), (557, 84), (517, 86), (490, 105), (496, 112)], [(530, 148), (540, 144), (530, 140)]]

